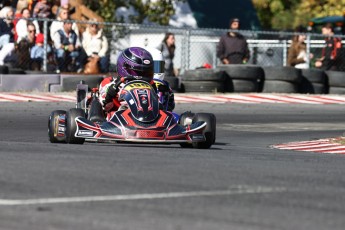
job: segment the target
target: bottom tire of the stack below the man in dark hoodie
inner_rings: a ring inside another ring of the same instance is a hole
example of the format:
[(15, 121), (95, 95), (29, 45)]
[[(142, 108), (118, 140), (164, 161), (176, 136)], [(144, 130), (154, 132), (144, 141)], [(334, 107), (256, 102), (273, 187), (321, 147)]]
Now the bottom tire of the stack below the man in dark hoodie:
[(226, 91), (237, 93), (258, 92), (259, 84), (256, 79), (228, 79)]

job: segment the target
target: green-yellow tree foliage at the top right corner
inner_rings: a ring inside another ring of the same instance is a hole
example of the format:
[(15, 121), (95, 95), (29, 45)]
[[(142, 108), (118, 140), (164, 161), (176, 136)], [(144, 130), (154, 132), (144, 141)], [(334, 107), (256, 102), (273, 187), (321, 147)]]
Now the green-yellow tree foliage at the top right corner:
[(294, 29), (314, 17), (343, 15), (345, 0), (252, 0), (264, 29)]

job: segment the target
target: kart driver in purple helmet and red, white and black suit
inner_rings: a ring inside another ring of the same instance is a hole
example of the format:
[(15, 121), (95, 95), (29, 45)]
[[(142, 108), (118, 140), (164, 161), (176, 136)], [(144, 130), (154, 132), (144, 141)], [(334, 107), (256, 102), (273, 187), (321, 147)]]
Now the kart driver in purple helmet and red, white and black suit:
[[(160, 60), (158, 60), (160, 62)], [(159, 64), (158, 64), (159, 65)], [(121, 52), (117, 59), (117, 76), (110, 76), (105, 78), (99, 87), (100, 100), (103, 103), (104, 110), (109, 113), (117, 111), (121, 107), (121, 102), (118, 100), (119, 91), (124, 84), (121, 84), (119, 89), (115, 89), (115, 84), (120, 81), (122, 77), (135, 76), (140, 80), (150, 83), (150, 85), (157, 91), (154, 77), (154, 60), (150, 52), (141, 47), (129, 47)], [(159, 70), (157, 70), (159, 71)], [(164, 69), (163, 69), (164, 72)], [(157, 72), (157, 77), (160, 72)], [(164, 77), (164, 75), (163, 75)], [(173, 94), (170, 97), (172, 109), (175, 107)], [(172, 110), (171, 109), (171, 110)], [(109, 116), (108, 116), (109, 117)]]

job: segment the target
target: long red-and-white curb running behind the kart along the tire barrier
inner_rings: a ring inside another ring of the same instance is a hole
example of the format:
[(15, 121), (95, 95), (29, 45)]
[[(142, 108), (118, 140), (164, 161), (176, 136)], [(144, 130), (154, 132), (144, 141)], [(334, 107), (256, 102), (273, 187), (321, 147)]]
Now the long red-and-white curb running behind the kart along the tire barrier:
[[(71, 93), (13, 93), (1, 92), (0, 102), (75, 102)], [(302, 94), (175, 94), (176, 103), (280, 103), (280, 104), (345, 104), (345, 95)]]

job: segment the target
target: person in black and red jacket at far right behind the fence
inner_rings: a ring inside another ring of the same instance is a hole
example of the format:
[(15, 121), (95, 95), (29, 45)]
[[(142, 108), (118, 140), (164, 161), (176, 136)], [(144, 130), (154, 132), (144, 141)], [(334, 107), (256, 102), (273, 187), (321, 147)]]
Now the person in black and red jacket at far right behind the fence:
[(322, 27), (322, 34), (326, 36), (322, 56), (315, 62), (315, 67), (323, 70), (339, 70), (341, 64), (341, 39), (335, 38), (333, 25), (327, 23)]

